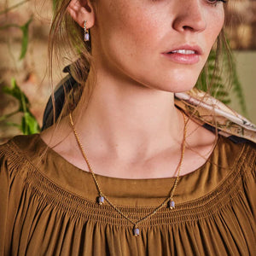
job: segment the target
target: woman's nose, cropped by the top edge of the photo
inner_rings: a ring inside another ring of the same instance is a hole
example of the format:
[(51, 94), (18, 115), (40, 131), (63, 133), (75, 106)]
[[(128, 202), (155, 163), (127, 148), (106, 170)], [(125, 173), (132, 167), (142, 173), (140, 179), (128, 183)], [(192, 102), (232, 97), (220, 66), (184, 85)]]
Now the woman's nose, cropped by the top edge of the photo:
[(201, 0), (179, 0), (177, 2), (179, 4), (176, 6), (177, 12), (173, 20), (173, 28), (179, 32), (204, 31), (207, 27), (207, 21)]

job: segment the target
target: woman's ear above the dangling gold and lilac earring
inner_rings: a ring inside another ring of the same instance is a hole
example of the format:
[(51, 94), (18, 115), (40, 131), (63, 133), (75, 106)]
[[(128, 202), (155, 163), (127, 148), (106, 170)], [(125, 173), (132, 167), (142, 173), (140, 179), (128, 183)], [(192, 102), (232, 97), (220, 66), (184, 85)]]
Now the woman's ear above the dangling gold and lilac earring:
[(79, 26), (84, 27), (84, 20), (87, 21), (87, 28), (94, 26), (95, 11), (89, 0), (71, 0), (67, 11)]

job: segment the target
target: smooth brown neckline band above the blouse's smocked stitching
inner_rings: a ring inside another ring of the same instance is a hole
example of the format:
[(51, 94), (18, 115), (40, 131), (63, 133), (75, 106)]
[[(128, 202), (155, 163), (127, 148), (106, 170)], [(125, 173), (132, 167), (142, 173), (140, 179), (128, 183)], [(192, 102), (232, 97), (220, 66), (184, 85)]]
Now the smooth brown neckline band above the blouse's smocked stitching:
[[(225, 143), (224, 143), (225, 141)], [(231, 173), (234, 166), (240, 165), (243, 160), (240, 154), (244, 150), (241, 147), (236, 150), (236, 154), (230, 154), (228, 139), (218, 137), (218, 141), (212, 150), (207, 162), (194, 172), (190, 172), (179, 178), (175, 192), (177, 207), (179, 204), (186, 204), (189, 201), (200, 201), (204, 195), (214, 194), (225, 178)], [(19, 150), (19, 145), (17, 150)], [(232, 143), (230, 143), (230, 146)], [(21, 146), (21, 145), (20, 145)], [(37, 173), (54, 183), (59, 189), (67, 193), (79, 195), (86, 201), (96, 202), (98, 191), (90, 172), (85, 172), (70, 162), (62, 158), (53, 149), (48, 148), (47, 154), (41, 159), (47, 145), (39, 135), (32, 137), (32, 142), (28, 146), (31, 155), (26, 154), (26, 160), (37, 166)], [(35, 157), (38, 155), (38, 157)], [(20, 152), (22, 154), (22, 152)], [(219, 154), (223, 157), (219, 159)], [(229, 154), (229, 157), (224, 157)], [(222, 172), (219, 172), (219, 166)], [(79, 177), (79, 178), (78, 178)], [(166, 199), (172, 190), (175, 177), (147, 178), (147, 179), (127, 179), (119, 177), (107, 177), (96, 174), (98, 182), (101, 184), (102, 191), (113, 201), (114, 204), (123, 207), (156, 207)], [(65, 184), (65, 186), (63, 186)]]

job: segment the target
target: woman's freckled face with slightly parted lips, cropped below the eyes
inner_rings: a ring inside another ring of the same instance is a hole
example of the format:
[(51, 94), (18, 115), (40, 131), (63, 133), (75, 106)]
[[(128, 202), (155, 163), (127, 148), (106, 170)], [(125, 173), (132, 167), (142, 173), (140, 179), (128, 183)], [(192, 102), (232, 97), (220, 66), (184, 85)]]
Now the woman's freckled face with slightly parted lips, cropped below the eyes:
[(190, 90), (223, 24), (222, 1), (98, 0), (92, 54), (114, 78)]

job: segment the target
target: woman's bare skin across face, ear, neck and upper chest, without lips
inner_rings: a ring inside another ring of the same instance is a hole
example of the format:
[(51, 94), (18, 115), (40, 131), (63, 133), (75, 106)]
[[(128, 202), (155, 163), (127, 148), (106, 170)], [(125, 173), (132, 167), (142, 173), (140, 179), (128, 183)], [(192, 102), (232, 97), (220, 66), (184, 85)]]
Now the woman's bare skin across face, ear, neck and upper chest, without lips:
[[(94, 4), (72, 0), (68, 9), (80, 26), (88, 20), (96, 64), (96, 73), (87, 80), (91, 83), (96, 77), (88, 108), (81, 101), (73, 112), (90, 164), (94, 172), (108, 177), (175, 177), (184, 123), (173, 93), (195, 85), (223, 26), (223, 3), (102, 0)], [(199, 45), (199, 61), (181, 63), (162, 55), (184, 44)], [(203, 165), (216, 143), (212, 132), (192, 120), (187, 129), (186, 143), (192, 150), (185, 150), (181, 175)], [(68, 118), (61, 120), (51, 140), (52, 132), (54, 128), (49, 128), (41, 134), (44, 142), (88, 171)]]

